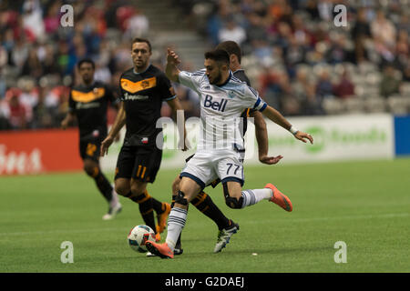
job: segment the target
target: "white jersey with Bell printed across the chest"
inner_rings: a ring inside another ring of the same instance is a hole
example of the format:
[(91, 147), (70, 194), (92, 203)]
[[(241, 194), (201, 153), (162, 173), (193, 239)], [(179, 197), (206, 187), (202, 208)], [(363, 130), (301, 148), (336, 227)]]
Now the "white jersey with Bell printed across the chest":
[(241, 113), (247, 108), (263, 111), (266, 103), (258, 92), (230, 71), (223, 85), (210, 85), (206, 70), (182, 71), (179, 83), (200, 96), (200, 138), (198, 150), (243, 149)]

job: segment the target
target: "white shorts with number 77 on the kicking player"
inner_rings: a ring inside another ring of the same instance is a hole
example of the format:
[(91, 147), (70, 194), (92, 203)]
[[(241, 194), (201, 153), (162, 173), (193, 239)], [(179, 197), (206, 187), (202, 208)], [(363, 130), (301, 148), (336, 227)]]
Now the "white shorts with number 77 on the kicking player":
[(228, 181), (245, 182), (243, 176), (243, 155), (233, 150), (198, 151), (182, 169), (180, 176), (186, 176), (202, 188), (220, 178)]

